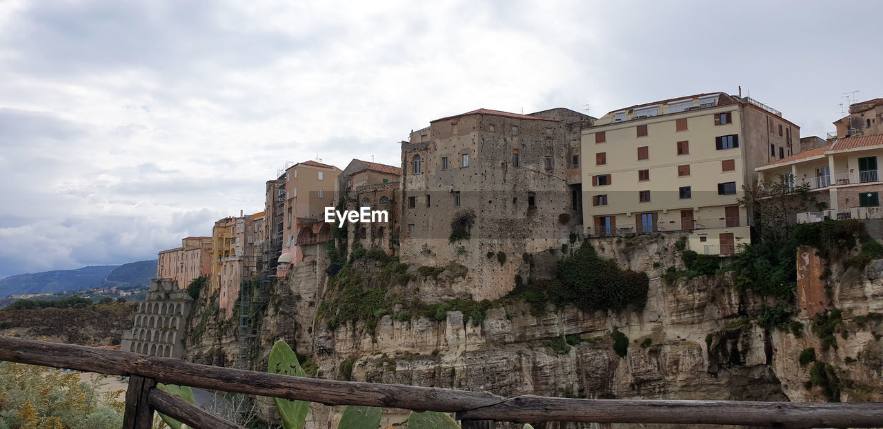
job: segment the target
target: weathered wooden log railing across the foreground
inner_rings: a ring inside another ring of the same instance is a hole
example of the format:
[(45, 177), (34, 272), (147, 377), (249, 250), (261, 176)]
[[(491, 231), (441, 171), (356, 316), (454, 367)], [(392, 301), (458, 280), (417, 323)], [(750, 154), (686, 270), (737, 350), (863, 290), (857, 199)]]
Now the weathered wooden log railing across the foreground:
[(461, 425), (469, 429), (493, 428), (496, 421), (774, 427), (872, 427), (883, 422), (883, 403), (569, 399), (534, 395), (505, 398), (447, 388), (257, 373), (170, 357), (8, 336), (0, 336), (0, 360), (128, 376), (125, 429), (150, 428), (155, 410), (195, 428), (239, 427), (155, 388), (157, 382), (326, 405), (456, 412)]

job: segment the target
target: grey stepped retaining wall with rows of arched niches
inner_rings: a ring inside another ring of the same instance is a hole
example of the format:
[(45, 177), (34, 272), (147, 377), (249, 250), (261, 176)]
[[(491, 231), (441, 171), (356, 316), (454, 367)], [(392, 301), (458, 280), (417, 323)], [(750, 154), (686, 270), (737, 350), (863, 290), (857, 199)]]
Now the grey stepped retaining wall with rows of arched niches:
[(123, 334), (120, 350), (184, 357), (184, 328), (191, 303), (187, 291), (178, 288), (175, 281), (154, 279), (135, 312), (134, 326)]

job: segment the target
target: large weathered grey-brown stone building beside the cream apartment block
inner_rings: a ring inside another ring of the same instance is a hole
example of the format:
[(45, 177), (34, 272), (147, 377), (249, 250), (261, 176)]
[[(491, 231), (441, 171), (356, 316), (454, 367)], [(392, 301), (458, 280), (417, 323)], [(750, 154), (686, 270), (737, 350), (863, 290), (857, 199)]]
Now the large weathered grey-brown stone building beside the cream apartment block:
[[(478, 109), (411, 132), (402, 142), (402, 259), (470, 267), (464, 284), (494, 284), (467, 288), (477, 299), (511, 290), (525, 253), (560, 249), (579, 230), (580, 184), (568, 177), (592, 120), (570, 109)], [(468, 214), (470, 238), (451, 241), (451, 222)]]

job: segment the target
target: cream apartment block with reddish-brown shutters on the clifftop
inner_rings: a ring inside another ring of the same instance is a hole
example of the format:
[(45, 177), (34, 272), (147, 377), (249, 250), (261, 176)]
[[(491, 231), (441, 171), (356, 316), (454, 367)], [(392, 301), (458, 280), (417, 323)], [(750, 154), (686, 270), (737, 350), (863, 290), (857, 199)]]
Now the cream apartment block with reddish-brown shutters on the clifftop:
[(689, 231), (691, 250), (732, 254), (751, 241), (743, 185), (799, 140), (778, 110), (725, 93), (610, 111), (582, 132), (585, 233)]

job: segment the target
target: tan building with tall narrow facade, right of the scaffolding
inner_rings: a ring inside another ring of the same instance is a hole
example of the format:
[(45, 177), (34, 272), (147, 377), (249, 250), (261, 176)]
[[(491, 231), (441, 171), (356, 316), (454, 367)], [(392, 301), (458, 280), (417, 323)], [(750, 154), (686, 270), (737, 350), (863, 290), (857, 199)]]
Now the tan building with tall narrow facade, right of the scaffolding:
[[(337, 176), (341, 170), (321, 162), (299, 162), (285, 170), (285, 202), (283, 205), (283, 243), (278, 259), (276, 275), (288, 274), (291, 266), (304, 260), (302, 245), (317, 245), (323, 231), (325, 207), (335, 207), (337, 202)], [(298, 237), (301, 244), (298, 245)], [(328, 237), (327, 231), (323, 237)], [(327, 238), (326, 238), (327, 239)], [(324, 241), (323, 241), (324, 242)], [(318, 252), (313, 250), (313, 256)]]

